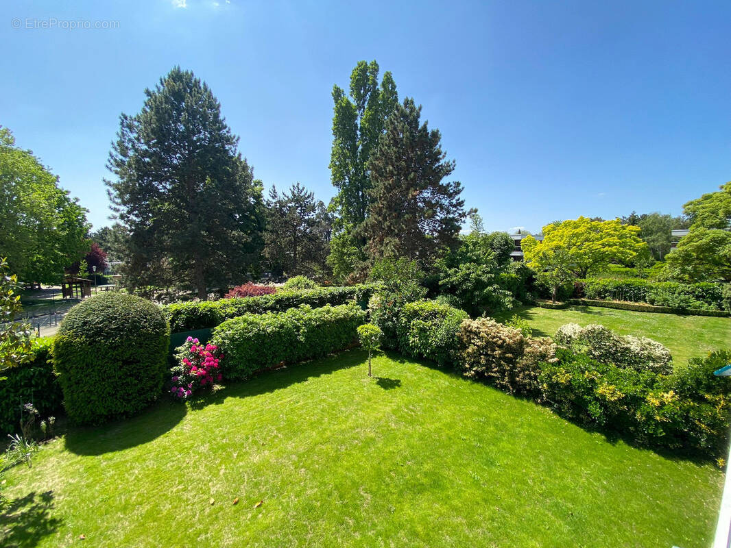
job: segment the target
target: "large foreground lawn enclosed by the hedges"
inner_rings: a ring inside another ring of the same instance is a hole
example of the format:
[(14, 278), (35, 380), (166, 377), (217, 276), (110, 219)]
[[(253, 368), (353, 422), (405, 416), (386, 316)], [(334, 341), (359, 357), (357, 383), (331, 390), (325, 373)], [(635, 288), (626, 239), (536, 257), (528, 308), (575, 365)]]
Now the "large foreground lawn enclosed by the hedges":
[(71, 430), (31, 470), (7, 474), (15, 502), (0, 545), (81, 545), (80, 535), (89, 547), (711, 541), (724, 479), (713, 465), (607, 440), (395, 355), (374, 359), (374, 374), (351, 351), (205, 405), (163, 402)]

